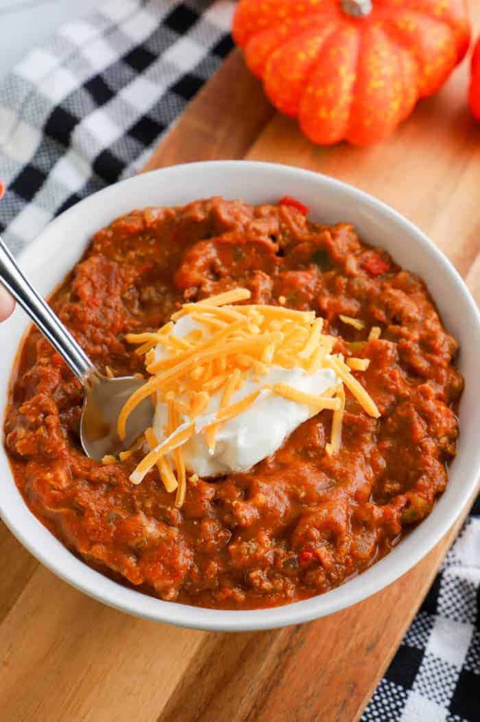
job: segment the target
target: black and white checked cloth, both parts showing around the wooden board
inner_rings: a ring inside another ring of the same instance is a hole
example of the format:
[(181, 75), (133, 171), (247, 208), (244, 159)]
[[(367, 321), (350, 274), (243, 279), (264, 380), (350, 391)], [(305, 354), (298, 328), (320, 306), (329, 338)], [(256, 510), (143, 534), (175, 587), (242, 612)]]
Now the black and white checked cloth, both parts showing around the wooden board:
[[(233, 6), (111, 0), (0, 82), (0, 230), (14, 251), (144, 165), (230, 52)], [(363, 722), (480, 722), (479, 598), (477, 503)]]

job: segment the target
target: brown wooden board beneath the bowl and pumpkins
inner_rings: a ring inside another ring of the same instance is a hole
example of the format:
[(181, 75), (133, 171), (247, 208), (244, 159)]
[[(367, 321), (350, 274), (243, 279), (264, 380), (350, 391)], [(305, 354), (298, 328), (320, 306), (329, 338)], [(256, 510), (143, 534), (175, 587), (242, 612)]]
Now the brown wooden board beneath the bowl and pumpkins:
[[(480, 6), (475, 14), (480, 25)], [(321, 149), (274, 114), (235, 51), (147, 168), (248, 158), (341, 178), (422, 227), (479, 299), (480, 126), (466, 108), (467, 71), (464, 63), (388, 142)], [(230, 635), (108, 609), (45, 570), (0, 523), (0, 719), (357, 720), (461, 521), (408, 574), (351, 609), (284, 630)]]

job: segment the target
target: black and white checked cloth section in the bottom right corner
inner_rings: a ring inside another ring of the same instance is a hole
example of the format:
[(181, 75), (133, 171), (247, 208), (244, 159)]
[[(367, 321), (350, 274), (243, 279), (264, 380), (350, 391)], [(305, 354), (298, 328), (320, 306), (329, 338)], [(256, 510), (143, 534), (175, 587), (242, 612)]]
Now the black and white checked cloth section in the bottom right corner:
[(480, 722), (480, 498), (362, 716), (387, 721)]

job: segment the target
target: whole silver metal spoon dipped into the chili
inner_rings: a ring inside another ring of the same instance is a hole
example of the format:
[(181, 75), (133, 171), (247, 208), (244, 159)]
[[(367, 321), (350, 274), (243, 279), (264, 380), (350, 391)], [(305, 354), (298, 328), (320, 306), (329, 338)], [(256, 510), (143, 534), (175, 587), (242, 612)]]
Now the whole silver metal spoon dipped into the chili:
[(135, 376), (107, 378), (102, 375), (79, 344), (38, 295), (20, 271), (17, 262), (0, 238), (0, 281), (30, 316), (35, 326), (51, 342), (84, 387), (85, 399), (80, 422), (80, 440), (90, 458), (126, 451), (152, 424), (153, 406), (145, 399), (128, 418), (126, 438), (118, 438), (116, 426), (123, 404), (145, 381)]

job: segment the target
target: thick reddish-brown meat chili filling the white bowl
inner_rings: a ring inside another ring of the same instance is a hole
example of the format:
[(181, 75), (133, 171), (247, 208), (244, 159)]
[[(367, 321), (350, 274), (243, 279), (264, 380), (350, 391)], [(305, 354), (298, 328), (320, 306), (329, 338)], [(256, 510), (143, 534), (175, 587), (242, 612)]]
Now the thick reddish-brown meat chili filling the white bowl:
[[(5, 443), (26, 503), (87, 564), (161, 599), (252, 609), (326, 592), (387, 554), (447, 483), (457, 342), (421, 279), (292, 200), (134, 211), (97, 232), (51, 305), (114, 375), (144, 370), (125, 335), (157, 329), (187, 300), (243, 286), (250, 303), (315, 310), (336, 352), (370, 359), (355, 375), (382, 414), (347, 392), (335, 456), (323, 411), (247, 473), (188, 482), (177, 509), (156, 469), (129, 482), (141, 452), (125, 464), (84, 456), (82, 388), (38, 331), (22, 347)], [(368, 340), (372, 326), (380, 339)]]

